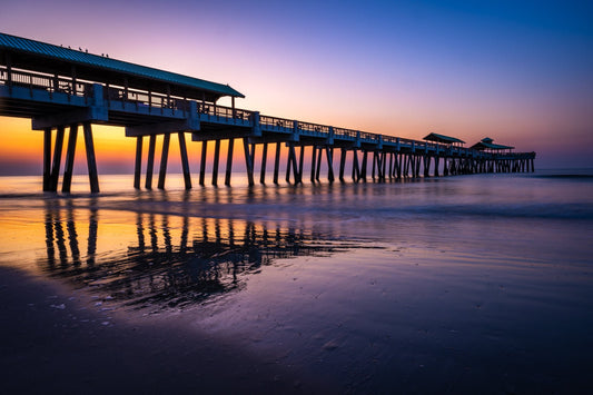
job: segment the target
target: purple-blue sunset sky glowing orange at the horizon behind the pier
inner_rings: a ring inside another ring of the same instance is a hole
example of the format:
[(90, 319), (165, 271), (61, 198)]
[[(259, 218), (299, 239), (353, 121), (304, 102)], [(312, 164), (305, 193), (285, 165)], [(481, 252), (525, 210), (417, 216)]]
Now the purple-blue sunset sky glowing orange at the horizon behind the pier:
[[(237, 107), (264, 115), (468, 145), (487, 136), (536, 151), (538, 168), (593, 167), (591, 2), (2, 0), (1, 10), (4, 33), (229, 83), (246, 96)], [(99, 171), (131, 169), (123, 129), (95, 130)], [(0, 118), (0, 174), (40, 174), (30, 120)]]

